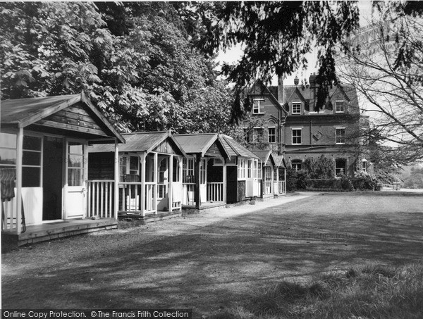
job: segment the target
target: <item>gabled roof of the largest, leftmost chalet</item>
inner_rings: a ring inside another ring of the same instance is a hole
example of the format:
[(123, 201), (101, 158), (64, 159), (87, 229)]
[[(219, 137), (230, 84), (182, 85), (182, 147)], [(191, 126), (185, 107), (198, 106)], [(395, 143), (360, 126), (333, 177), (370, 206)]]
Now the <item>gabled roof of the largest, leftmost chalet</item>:
[(82, 93), (1, 101), (1, 124), (27, 127), (78, 102), (90, 108), (96, 120), (106, 126), (111, 137), (117, 137), (120, 142), (125, 142), (122, 135)]

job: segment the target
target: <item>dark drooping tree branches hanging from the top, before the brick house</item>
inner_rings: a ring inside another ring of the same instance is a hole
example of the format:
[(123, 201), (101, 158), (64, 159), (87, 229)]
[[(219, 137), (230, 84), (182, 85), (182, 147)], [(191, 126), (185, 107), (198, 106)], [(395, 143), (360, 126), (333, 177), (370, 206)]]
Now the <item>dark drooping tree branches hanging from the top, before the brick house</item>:
[(213, 54), (234, 44), (243, 46), (239, 63), (223, 65), (224, 75), (235, 83), (235, 122), (251, 108), (245, 93), (257, 78), (266, 84), (275, 74), (290, 74), (306, 66), (305, 54), (314, 49), (321, 83), (317, 108), (321, 108), (327, 86), (338, 82), (335, 46), (358, 27), (358, 8), (353, 1), (217, 2), (194, 12), (207, 29), (201, 43), (204, 51)]

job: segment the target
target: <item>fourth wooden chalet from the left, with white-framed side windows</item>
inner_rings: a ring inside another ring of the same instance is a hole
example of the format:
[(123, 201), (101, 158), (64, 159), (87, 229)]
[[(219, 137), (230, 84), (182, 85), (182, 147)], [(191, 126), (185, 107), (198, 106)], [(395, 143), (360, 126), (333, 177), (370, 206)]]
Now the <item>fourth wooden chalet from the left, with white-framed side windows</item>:
[(231, 156), (226, 160), (226, 201), (236, 203), (259, 196), (260, 158), (232, 137), (220, 135), (220, 139)]

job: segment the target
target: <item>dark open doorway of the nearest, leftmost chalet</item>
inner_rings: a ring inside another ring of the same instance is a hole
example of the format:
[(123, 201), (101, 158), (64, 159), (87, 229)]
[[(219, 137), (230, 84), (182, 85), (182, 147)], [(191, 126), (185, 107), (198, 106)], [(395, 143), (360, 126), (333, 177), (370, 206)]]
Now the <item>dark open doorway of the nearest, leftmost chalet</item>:
[(42, 220), (62, 218), (63, 139), (44, 137)]

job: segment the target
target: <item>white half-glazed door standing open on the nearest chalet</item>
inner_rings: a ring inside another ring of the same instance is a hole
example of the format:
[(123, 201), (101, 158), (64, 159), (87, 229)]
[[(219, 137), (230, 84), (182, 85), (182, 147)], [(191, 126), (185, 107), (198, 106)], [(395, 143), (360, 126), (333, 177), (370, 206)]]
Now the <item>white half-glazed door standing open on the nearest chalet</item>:
[(87, 180), (87, 145), (85, 142), (66, 142), (65, 219), (84, 218), (87, 208), (85, 180)]

